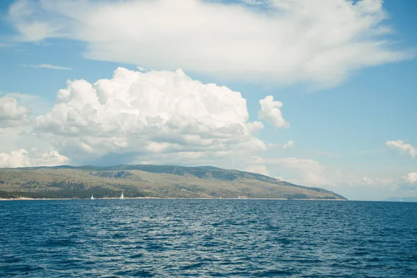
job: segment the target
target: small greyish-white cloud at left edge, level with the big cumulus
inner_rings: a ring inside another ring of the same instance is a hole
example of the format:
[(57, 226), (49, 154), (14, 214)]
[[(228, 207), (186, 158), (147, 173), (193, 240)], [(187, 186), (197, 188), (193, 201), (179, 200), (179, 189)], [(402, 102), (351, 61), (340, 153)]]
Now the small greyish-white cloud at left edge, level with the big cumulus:
[(0, 128), (28, 123), (31, 110), (17, 103), (13, 97), (0, 97)]

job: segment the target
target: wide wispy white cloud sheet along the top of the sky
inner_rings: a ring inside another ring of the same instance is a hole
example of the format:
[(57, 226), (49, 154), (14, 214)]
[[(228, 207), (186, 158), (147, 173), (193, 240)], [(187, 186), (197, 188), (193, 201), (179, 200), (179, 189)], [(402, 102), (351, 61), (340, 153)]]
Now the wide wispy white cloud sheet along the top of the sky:
[(412, 57), (388, 37), (382, 0), (265, 3), (19, 0), (8, 16), (20, 40), (80, 40), (96, 60), (245, 81), (332, 86)]

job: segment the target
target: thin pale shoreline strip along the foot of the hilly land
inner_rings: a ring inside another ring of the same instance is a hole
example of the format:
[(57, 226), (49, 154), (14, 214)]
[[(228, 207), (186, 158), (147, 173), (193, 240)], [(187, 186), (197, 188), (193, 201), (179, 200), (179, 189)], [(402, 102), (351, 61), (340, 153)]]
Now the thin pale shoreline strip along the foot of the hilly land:
[[(81, 200), (81, 199), (90, 199), (90, 198), (27, 198), (27, 197), (19, 197), (19, 198), (0, 198), (0, 201), (47, 201), (47, 200)], [(99, 199), (120, 199), (120, 197), (103, 197), (103, 198), (95, 198), (94, 200)], [(220, 199), (220, 198), (181, 198), (181, 197), (125, 197), (124, 199)], [(282, 201), (347, 201), (346, 199), (285, 199), (285, 198), (221, 198), (221, 199), (262, 199), (262, 200), (282, 200)], [(94, 201), (91, 200), (91, 201)]]

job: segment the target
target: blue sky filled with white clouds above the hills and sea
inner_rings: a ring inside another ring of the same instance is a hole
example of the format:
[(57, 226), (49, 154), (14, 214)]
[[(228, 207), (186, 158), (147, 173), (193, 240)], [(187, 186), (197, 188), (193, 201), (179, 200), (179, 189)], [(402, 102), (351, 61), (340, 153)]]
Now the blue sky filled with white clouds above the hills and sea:
[(3, 0), (0, 167), (213, 165), (417, 196), (416, 9)]

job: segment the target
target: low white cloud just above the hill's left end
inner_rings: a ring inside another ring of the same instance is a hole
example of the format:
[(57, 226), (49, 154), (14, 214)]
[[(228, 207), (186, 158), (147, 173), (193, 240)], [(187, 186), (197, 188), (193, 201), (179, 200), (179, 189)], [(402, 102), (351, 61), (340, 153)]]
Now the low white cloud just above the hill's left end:
[(31, 167), (65, 165), (69, 162), (66, 156), (58, 152), (44, 152), (29, 156), (25, 149), (18, 149), (10, 153), (0, 153), (0, 167)]

